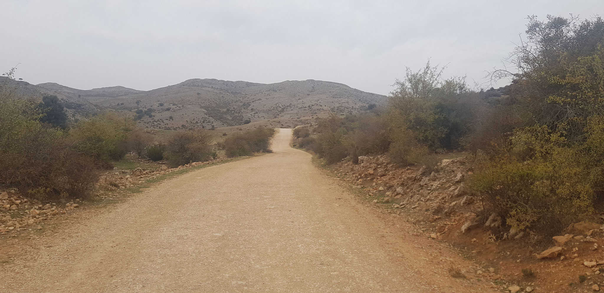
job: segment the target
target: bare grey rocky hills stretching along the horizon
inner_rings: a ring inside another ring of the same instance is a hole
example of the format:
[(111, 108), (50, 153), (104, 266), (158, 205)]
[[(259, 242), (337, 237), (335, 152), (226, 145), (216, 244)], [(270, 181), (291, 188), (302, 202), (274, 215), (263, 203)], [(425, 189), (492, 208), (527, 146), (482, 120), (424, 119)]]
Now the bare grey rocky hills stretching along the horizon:
[(56, 83), (10, 83), (17, 84), (26, 95), (57, 95), (66, 105), (81, 105), (82, 112), (129, 111), (142, 126), (164, 129), (191, 125), (226, 127), (275, 118), (292, 121), (329, 112), (356, 113), (370, 104), (383, 105), (387, 99), (345, 84), (318, 80), (262, 84), (194, 78), (146, 92), (121, 86), (79, 90)]

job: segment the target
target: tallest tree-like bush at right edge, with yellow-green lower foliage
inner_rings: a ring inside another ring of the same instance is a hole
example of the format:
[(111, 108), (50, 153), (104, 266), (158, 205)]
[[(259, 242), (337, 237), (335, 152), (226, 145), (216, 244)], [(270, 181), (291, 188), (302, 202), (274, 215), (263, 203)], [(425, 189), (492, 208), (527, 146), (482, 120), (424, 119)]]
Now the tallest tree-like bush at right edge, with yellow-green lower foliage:
[(471, 181), (508, 225), (550, 235), (591, 215), (604, 190), (604, 21), (573, 22), (530, 18), (507, 109), (529, 119), (503, 120), (513, 131)]

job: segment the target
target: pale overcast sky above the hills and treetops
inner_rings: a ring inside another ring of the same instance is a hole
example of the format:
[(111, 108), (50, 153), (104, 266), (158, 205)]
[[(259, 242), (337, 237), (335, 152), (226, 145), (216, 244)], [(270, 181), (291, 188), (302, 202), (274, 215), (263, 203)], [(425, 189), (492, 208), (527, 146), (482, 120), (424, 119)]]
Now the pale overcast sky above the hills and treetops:
[(428, 58), (485, 83), (528, 15), (569, 13), (604, 14), (604, 0), (0, 0), (0, 72), (21, 63), (16, 78), (77, 89), (315, 79), (386, 95)]

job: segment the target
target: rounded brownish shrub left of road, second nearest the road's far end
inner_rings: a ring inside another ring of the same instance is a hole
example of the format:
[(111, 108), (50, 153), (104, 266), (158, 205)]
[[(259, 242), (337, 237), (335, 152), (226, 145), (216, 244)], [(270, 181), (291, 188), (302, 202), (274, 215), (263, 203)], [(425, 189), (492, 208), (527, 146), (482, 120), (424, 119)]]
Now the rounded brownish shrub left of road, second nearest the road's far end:
[(210, 159), (211, 136), (204, 130), (189, 130), (173, 134), (165, 145), (164, 157), (170, 167)]

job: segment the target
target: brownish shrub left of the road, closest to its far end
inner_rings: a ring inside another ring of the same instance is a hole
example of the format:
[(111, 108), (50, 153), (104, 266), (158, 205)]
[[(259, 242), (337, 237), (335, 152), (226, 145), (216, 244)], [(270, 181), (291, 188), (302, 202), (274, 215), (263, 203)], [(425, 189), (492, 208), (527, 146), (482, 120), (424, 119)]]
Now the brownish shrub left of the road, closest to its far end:
[(227, 157), (251, 156), (259, 152), (271, 152), (272, 128), (258, 127), (244, 133), (236, 134), (225, 140)]

